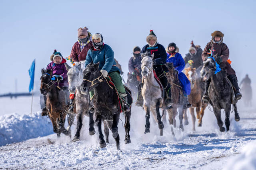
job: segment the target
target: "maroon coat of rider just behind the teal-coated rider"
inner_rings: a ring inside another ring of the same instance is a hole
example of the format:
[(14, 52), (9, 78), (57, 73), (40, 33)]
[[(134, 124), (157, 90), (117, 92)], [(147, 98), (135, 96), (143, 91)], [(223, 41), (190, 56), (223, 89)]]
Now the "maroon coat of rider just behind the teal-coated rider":
[(89, 49), (92, 47), (92, 41), (90, 41), (88, 44), (85, 45), (84, 49), (80, 51), (80, 44), (78, 41), (74, 43), (71, 53), (70, 53), (70, 58), (73, 59), (73, 61), (84, 61), (86, 59), (86, 55), (89, 51)]

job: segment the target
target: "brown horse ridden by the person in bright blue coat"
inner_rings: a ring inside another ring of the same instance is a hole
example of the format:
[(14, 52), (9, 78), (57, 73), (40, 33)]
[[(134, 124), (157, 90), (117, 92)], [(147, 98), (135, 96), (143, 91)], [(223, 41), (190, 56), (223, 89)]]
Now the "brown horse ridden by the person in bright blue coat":
[[(182, 131), (184, 130), (183, 127), (183, 118), (185, 119), (184, 125), (188, 125), (188, 117), (186, 116), (186, 114), (184, 114), (184, 109), (183, 109), (183, 91), (182, 91), (182, 87), (180, 86), (180, 82), (178, 80), (178, 74), (176, 74), (176, 72), (174, 71), (174, 66), (173, 63), (167, 63), (166, 64), (169, 72), (166, 74), (168, 81), (171, 85), (171, 96), (172, 96), (172, 113), (169, 114), (169, 123), (170, 125), (173, 125), (174, 127), (176, 127), (176, 115), (177, 113), (179, 113), (179, 120), (180, 120), (180, 126), (179, 128), (182, 129)], [(177, 111), (178, 110), (178, 111)], [(170, 117), (172, 116), (172, 117)]]

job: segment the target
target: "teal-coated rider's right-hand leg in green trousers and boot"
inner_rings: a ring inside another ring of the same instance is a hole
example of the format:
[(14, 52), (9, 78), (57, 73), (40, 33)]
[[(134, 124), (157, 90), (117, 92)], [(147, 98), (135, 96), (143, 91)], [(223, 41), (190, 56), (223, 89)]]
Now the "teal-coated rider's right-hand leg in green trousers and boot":
[(125, 91), (125, 88), (124, 88), (122, 77), (120, 76), (120, 74), (117, 71), (110, 72), (108, 74), (111, 77), (113, 83), (115, 84), (116, 89), (121, 94), (121, 96), (124, 100), (123, 111), (124, 112), (130, 111), (130, 108), (128, 107), (127, 94), (126, 94), (126, 91)]

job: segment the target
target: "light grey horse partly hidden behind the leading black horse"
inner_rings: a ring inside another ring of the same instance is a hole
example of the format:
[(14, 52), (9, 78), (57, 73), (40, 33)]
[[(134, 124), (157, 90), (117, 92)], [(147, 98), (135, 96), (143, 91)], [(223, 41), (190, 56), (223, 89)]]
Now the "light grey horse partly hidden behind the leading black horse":
[[(76, 65), (70, 67), (66, 66), (66, 69), (68, 70), (68, 90), (70, 94), (75, 94), (75, 102), (74, 102), (74, 110), (76, 111), (76, 117), (77, 117), (77, 125), (76, 125), (76, 134), (73, 138), (73, 142), (80, 140), (80, 131), (82, 128), (82, 121), (83, 121), (83, 115), (86, 115), (89, 117), (89, 135), (95, 134), (94, 129), (94, 119), (93, 119), (93, 113), (88, 111), (89, 104), (90, 104), (90, 97), (89, 95), (82, 94), (80, 91), (80, 86), (83, 82), (83, 71), (85, 70), (85, 61), (80, 61)], [(104, 121), (104, 133), (106, 137), (106, 143), (109, 143), (108, 141), (108, 126), (106, 122)]]

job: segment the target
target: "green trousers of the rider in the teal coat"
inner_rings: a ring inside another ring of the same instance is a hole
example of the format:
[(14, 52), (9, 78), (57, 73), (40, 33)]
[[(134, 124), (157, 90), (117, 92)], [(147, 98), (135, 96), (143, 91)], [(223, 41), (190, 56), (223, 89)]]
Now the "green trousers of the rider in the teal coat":
[[(112, 82), (115, 84), (118, 92), (121, 94), (122, 93), (125, 94), (126, 92), (125, 92), (124, 84), (122, 82), (122, 77), (120, 76), (119, 72), (118, 71), (109, 72), (108, 75), (111, 77)], [(90, 93), (90, 98), (92, 100), (94, 91), (91, 90), (89, 93)]]

